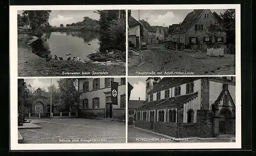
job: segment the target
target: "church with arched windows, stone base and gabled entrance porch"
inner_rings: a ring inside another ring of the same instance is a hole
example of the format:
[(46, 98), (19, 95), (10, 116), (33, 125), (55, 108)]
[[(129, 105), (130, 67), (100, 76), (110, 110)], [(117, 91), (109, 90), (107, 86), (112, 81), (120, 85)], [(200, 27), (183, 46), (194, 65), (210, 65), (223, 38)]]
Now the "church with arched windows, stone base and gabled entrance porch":
[(234, 77), (164, 77), (136, 108), (135, 126), (175, 138), (236, 131)]

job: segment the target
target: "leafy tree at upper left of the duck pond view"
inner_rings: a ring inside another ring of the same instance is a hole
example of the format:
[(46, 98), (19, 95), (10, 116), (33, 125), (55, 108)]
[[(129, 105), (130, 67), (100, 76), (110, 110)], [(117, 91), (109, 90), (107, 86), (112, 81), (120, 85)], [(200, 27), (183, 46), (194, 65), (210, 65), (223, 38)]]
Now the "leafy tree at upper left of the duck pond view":
[(50, 13), (50, 10), (26, 10), (22, 14), (24, 21), (27, 22), (32, 31), (35, 32), (41, 25), (49, 23)]

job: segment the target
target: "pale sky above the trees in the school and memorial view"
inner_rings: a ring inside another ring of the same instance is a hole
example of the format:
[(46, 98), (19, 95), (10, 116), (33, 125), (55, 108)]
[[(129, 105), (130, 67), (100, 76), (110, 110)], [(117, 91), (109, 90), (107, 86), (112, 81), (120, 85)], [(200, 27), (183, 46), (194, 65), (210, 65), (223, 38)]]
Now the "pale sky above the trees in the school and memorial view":
[[(56, 88), (58, 88), (58, 79), (52, 79), (52, 85), (54, 84)], [(31, 87), (36, 90), (37, 88), (45, 88), (45, 90), (48, 92), (48, 87), (51, 86), (51, 79), (24, 79), (24, 82), (26, 84), (30, 84)]]

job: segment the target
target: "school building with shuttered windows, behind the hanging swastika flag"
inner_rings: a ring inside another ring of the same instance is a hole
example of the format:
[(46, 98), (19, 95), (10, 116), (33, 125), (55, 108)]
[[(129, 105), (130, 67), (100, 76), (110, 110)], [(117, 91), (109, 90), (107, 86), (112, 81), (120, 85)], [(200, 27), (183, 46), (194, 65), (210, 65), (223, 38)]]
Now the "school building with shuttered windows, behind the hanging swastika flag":
[[(119, 83), (118, 105), (112, 105), (111, 82)], [(125, 120), (125, 77), (78, 79), (78, 90), (78, 117)]]

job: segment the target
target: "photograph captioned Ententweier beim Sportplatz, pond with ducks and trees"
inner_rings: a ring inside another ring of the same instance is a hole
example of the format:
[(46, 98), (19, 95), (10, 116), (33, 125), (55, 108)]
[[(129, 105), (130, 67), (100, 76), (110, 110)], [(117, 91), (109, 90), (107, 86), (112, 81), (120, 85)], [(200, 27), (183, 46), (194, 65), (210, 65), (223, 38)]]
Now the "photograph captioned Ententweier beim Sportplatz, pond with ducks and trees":
[(18, 76), (125, 75), (125, 14), (17, 11)]

